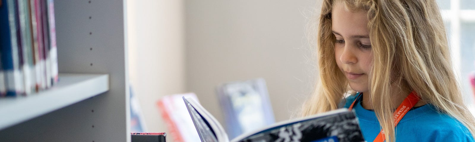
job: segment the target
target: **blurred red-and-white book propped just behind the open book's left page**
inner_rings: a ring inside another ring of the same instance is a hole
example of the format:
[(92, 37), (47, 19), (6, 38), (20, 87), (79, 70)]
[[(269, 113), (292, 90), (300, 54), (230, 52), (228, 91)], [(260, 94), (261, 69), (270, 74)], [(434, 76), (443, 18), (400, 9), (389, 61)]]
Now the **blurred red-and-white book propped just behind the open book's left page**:
[(173, 142), (201, 142), (183, 98), (198, 100), (194, 93), (164, 96), (157, 101), (161, 117)]

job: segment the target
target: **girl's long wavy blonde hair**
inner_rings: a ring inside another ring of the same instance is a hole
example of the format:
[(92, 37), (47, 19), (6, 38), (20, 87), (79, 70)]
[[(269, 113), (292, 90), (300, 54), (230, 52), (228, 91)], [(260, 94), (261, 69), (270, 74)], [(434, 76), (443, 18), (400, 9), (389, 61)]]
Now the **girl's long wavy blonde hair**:
[(319, 82), (314, 95), (304, 103), (302, 115), (337, 109), (344, 95), (354, 92), (335, 62), (335, 2), (351, 11), (367, 11), (373, 53), (370, 100), (386, 142), (395, 141), (394, 104), (388, 99), (394, 75), (422, 101), (460, 121), (472, 135), (475, 133), (475, 119), (463, 103), (435, 0), (323, 0), (316, 37)]

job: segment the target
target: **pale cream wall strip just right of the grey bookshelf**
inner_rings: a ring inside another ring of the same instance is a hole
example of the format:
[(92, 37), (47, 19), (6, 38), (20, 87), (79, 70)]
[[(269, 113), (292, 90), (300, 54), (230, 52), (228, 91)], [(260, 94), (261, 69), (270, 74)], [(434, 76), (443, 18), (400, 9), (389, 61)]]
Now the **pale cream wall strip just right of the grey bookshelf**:
[(155, 102), (185, 92), (183, 0), (127, 0), (129, 72), (147, 132), (167, 132)]

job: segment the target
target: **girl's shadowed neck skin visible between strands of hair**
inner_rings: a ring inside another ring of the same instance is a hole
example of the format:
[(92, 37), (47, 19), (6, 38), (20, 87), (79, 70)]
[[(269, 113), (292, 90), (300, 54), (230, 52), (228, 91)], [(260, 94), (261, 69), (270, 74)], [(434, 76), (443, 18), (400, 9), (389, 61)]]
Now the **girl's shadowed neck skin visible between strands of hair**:
[[(388, 98), (392, 101), (392, 104), (393, 106), (391, 106), (392, 108), (396, 109), (399, 107), (399, 105), (402, 103), (402, 101), (409, 96), (409, 93), (412, 91), (412, 89), (409, 89), (409, 87), (406, 87), (406, 85), (404, 85), (404, 87), (402, 86), (396, 86), (394, 85), (395, 83), (393, 83), (391, 85), (391, 89), (390, 89), (390, 96), (391, 98)], [(374, 109), (374, 107), (372, 106), (372, 103), (371, 103), (371, 94), (369, 91), (367, 92), (363, 92), (363, 101), (361, 103), (361, 106), (365, 109)], [(422, 106), (422, 105), (425, 105), (426, 103), (424, 101), (419, 101), (414, 107), (419, 107), (419, 106)]]

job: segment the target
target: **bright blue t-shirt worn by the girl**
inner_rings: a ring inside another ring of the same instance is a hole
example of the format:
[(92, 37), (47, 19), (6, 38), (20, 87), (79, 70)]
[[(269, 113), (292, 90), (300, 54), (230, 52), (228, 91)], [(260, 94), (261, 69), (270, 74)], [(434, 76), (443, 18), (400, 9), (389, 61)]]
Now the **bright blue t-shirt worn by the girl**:
[[(350, 107), (358, 94), (346, 98), (345, 106)], [(356, 101), (353, 110), (360, 122), (361, 133), (367, 142), (372, 142), (380, 133), (380, 123), (374, 111), (361, 106)], [(431, 104), (410, 110), (396, 126), (397, 142), (475, 142), (468, 129), (455, 118), (438, 113)]]

